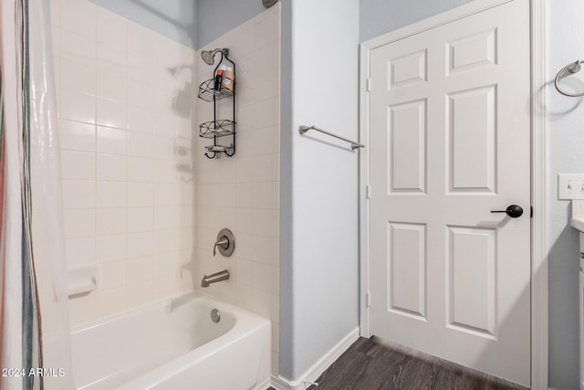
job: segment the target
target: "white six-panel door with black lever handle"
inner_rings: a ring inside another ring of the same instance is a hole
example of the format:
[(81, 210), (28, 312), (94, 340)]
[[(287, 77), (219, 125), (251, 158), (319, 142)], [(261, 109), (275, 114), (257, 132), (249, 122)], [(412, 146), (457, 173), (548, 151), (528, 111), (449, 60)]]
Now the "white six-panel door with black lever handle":
[(370, 332), (522, 385), (529, 69), (527, 0), (370, 51)]

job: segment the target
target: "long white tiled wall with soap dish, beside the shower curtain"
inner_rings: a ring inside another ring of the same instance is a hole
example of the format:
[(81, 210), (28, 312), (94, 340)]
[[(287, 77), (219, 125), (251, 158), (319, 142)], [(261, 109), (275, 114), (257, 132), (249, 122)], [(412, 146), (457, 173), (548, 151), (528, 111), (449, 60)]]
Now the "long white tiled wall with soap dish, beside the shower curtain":
[(196, 53), (87, 0), (51, 0), (71, 324), (193, 289)]

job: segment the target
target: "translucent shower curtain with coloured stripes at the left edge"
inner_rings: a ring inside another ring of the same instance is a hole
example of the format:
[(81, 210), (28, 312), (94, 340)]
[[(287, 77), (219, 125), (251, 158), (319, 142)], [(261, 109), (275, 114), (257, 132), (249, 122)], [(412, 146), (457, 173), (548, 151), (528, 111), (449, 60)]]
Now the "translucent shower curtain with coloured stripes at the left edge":
[(0, 2), (0, 388), (74, 388), (46, 0)]

